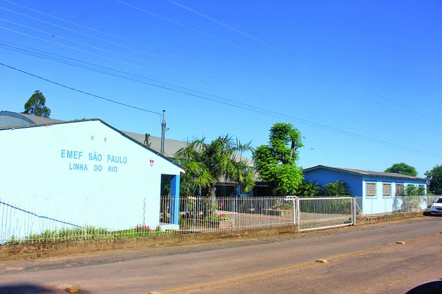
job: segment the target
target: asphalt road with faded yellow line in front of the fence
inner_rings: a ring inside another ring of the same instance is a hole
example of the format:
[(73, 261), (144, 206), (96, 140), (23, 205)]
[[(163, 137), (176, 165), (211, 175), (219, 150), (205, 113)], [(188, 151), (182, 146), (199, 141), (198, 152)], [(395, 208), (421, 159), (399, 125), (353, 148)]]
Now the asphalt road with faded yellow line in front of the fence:
[[(442, 218), (428, 217), (277, 242), (249, 240), (227, 248), (175, 247), (150, 257), (117, 254), (82, 257), (82, 262), (3, 264), (0, 292), (61, 292), (73, 284), (89, 293), (399, 293), (426, 282), (438, 285), (441, 225)], [(329, 263), (316, 263), (317, 258)]]

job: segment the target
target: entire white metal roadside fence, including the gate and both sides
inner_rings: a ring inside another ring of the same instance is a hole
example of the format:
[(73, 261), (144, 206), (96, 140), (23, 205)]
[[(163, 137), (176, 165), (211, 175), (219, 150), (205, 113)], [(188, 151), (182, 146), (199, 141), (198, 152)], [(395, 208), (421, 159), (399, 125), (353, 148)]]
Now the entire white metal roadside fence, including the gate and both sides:
[(439, 196), (66, 198), (0, 195), (0, 245), (146, 237), (298, 224), (300, 231), (356, 217), (424, 211)]

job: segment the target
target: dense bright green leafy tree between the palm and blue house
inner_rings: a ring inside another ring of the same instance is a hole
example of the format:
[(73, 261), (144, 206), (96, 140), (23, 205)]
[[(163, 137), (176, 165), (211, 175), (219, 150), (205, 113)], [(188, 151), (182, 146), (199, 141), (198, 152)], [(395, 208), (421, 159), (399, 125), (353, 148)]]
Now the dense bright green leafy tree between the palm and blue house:
[(291, 123), (277, 122), (270, 128), (269, 144), (258, 146), (253, 153), (261, 179), (274, 184), (276, 194), (294, 194), (304, 178), (297, 166), (301, 133)]

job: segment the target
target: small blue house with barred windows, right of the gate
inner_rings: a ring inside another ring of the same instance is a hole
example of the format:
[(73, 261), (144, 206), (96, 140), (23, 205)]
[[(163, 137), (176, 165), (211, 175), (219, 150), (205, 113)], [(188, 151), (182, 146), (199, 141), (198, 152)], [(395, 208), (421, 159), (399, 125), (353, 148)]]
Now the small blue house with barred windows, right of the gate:
[[(330, 182), (347, 183), (350, 194), (358, 197), (359, 208), (364, 214), (392, 212), (402, 204), (396, 196), (404, 195), (408, 187), (422, 187), (426, 193), (426, 179), (395, 173), (373, 172), (355, 169), (315, 166), (304, 170), (304, 181), (325, 185)], [(426, 208), (426, 203), (420, 203)]]

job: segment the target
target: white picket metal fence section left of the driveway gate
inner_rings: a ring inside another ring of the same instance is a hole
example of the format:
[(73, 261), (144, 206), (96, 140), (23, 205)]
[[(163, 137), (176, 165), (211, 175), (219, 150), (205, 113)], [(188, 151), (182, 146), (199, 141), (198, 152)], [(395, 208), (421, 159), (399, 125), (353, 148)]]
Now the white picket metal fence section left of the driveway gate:
[(285, 226), (285, 197), (0, 197), (0, 244)]

